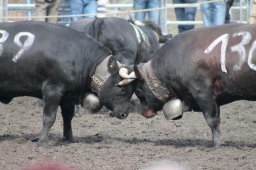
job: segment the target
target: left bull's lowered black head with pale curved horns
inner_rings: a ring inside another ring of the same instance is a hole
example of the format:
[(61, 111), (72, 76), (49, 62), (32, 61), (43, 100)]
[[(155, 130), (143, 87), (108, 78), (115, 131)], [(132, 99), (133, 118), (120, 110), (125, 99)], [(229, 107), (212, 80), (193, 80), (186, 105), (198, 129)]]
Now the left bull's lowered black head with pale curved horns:
[[(129, 114), (129, 104), (134, 93), (134, 85), (130, 82), (135, 78), (133, 73), (128, 74), (132, 72), (130, 67), (127, 67), (128, 72), (121, 67), (117, 64), (114, 56), (109, 57), (107, 69), (110, 76), (98, 94), (99, 103), (111, 110), (111, 115), (118, 119), (124, 119)], [(127, 82), (127, 80), (129, 81)]]

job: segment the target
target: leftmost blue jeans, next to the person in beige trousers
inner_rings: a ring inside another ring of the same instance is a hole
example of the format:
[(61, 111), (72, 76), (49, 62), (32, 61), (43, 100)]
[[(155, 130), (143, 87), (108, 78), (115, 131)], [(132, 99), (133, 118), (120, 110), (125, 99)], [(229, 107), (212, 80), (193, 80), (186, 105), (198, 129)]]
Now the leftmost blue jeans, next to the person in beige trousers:
[[(98, 4), (96, 0), (69, 0), (70, 11), (72, 14), (95, 14)], [(85, 16), (85, 18), (94, 18), (95, 16)], [(83, 18), (82, 16), (71, 17), (72, 21)]]

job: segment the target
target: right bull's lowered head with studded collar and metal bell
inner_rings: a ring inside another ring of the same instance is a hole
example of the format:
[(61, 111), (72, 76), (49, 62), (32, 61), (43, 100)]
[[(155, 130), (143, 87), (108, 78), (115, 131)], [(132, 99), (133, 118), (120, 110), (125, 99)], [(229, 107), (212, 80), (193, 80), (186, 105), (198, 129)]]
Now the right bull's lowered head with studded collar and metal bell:
[(143, 65), (134, 65), (134, 72), (138, 79), (135, 94), (140, 99), (142, 115), (152, 118), (157, 111), (163, 110), (167, 120), (182, 118), (182, 101), (173, 97), (172, 92), (156, 77), (150, 63), (151, 61)]

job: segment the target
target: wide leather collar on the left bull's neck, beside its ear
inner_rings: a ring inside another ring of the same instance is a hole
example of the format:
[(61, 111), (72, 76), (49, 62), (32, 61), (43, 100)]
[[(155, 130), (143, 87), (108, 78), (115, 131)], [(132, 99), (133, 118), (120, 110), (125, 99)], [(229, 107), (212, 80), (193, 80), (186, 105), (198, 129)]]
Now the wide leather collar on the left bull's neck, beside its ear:
[[(89, 88), (99, 94), (102, 86), (111, 76), (111, 73), (108, 71), (108, 60), (112, 55), (107, 56), (100, 62), (96, 67), (95, 73), (91, 77), (91, 82), (89, 83)], [(117, 61), (117, 65), (120, 67), (122, 64)]]

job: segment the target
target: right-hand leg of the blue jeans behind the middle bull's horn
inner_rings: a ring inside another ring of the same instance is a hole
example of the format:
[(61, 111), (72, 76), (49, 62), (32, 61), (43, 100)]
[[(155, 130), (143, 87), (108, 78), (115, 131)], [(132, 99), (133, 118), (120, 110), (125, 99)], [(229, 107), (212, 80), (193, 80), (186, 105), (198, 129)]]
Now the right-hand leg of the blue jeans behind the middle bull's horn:
[[(159, 0), (149, 0), (147, 4), (147, 9), (152, 8), (159, 8), (160, 7), (160, 1)], [(148, 11), (148, 19), (154, 21), (156, 24), (160, 25), (160, 11), (154, 10), (154, 11)]]

